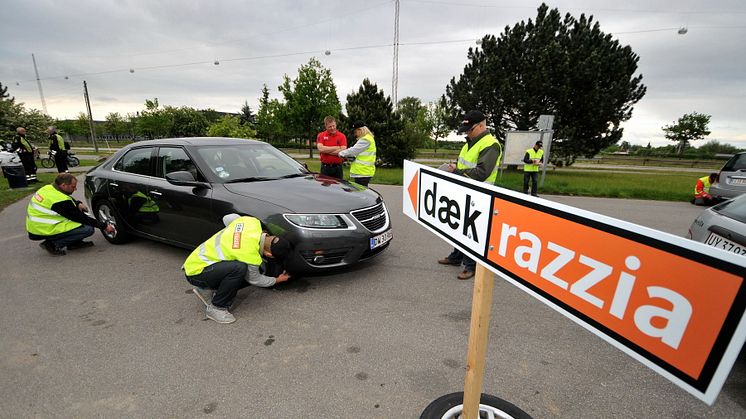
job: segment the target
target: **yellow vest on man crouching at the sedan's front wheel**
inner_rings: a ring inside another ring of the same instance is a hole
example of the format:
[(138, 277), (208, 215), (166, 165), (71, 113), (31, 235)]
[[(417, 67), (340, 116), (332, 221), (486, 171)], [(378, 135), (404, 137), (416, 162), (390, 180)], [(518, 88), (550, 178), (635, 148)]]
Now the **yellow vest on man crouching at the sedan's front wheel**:
[(184, 262), (188, 276), (199, 275), (213, 263), (237, 260), (249, 265), (262, 264), (262, 224), (254, 217), (238, 217), (199, 245)]

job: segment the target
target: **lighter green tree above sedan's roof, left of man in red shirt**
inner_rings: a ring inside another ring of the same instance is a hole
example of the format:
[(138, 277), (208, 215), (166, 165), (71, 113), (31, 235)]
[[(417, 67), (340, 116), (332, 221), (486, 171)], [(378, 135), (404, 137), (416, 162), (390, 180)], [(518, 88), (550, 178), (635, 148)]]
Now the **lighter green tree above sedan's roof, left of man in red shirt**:
[(327, 115), (338, 116), (342, 105), (337, 97), (331, 70), (315, 58), (298, 69), (298, 77), (285, 75), (278, 88), (285, 98), (287, 129), (296, 138), (308, 139), (309, 157), (313, 157), (313, 141)]

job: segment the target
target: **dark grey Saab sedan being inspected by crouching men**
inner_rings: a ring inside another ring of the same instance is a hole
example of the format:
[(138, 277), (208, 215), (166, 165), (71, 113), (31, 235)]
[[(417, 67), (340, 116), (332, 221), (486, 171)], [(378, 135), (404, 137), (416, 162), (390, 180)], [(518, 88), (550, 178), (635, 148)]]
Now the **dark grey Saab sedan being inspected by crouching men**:
[(392, 238), (378, 193), (309, 172), (255, 140), (174, 138), (124, 147), (86, 174), (85, 196), (114, 244), (131, 236), (193, 249), (237, 213), (258, 218), (294, 244), (293, 273), (323, 272), (368, 259)]

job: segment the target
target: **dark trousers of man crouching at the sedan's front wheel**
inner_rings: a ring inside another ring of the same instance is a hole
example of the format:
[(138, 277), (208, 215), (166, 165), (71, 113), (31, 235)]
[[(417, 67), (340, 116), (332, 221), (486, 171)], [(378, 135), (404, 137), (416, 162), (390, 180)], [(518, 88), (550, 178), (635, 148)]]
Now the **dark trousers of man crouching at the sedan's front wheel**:
[(237, 260), (224, 260), (206, 267), (198, 275), (188, 276), (190, 284), (215, 290), (212, 305), (227, 310), (233, 304), (238, 290), (249, 286), (246, 282), (248, 266)]

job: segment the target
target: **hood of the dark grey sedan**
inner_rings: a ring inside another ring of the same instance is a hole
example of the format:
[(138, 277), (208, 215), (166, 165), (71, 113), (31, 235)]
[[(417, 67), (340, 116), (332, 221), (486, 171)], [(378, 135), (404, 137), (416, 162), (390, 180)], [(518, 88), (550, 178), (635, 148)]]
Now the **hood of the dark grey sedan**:
[(229, 192), (271, 202), (296, 213), (348, 213), (382, 201), (370, 189), (316, 174), (224, 186)]

